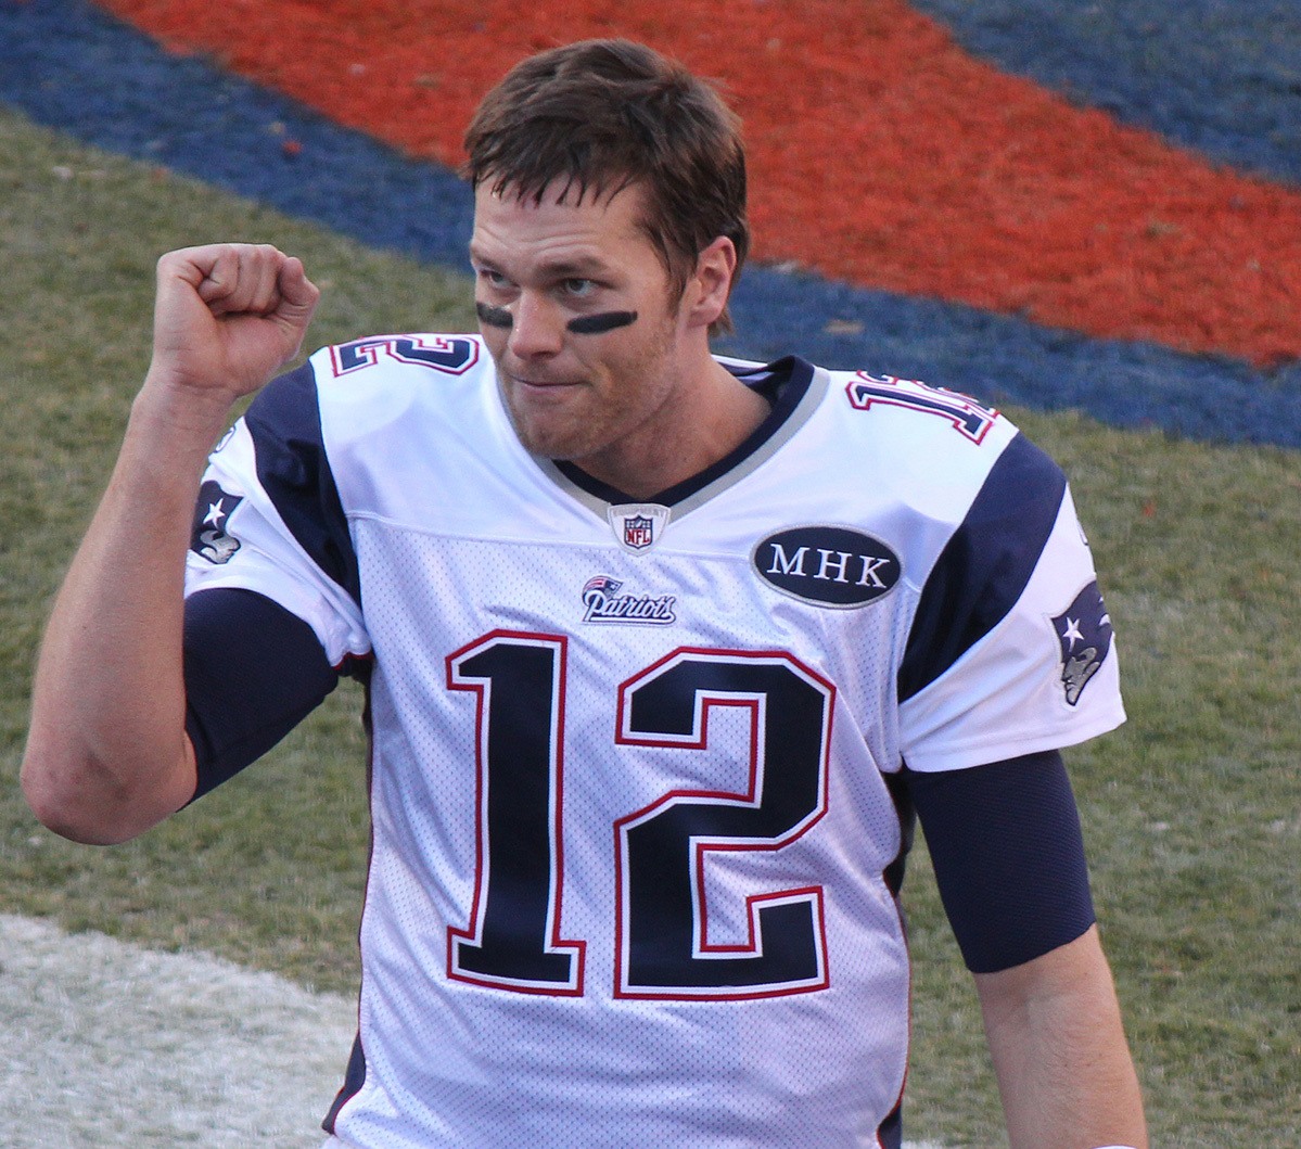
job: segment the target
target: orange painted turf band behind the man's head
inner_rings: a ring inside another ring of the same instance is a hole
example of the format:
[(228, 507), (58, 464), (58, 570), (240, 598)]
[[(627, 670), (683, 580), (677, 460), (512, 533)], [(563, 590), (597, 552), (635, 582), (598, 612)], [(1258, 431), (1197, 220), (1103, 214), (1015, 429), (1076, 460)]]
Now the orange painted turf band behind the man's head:
[(1101, 337), (1301, 357), (1301, 191), (973, 60), (899, 0), (100, 0), (455, 165), (518, 59), (624, 35), (745, 117), (756, 255)]

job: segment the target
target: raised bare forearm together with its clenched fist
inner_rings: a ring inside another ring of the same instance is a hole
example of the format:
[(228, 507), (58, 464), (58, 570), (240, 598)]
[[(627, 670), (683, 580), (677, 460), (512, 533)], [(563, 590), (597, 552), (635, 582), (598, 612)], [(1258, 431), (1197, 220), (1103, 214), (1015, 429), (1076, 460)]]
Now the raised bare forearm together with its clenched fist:
[(150, 375), (33, 692), (23, 792), (66, 837), (131, 838), (194, 792), (181, 630), (195, 496), (233, 403), (298, 354), (317, 298), (302, 263), (265, 245), (159, 260)]

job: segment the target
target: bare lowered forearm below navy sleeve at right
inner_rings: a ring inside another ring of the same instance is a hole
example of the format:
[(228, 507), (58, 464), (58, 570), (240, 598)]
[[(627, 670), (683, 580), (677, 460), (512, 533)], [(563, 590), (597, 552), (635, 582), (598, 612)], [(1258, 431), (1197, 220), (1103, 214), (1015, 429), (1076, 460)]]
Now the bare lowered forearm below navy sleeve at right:
[(1142, 1097), (1095, 929), (976, 984), (1012, 1149), (1145, 1149)]

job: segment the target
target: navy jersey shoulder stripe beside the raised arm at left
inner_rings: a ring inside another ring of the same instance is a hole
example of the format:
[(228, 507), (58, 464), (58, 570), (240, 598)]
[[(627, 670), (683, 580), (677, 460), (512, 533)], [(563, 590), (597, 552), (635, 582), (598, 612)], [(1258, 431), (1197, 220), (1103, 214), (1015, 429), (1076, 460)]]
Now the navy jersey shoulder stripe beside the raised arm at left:
[(321, 437), (310, 363), (272, 380), (245, 415), (258, 479), (285, 526), (316, 565), (362, 601), (356, 553)]

